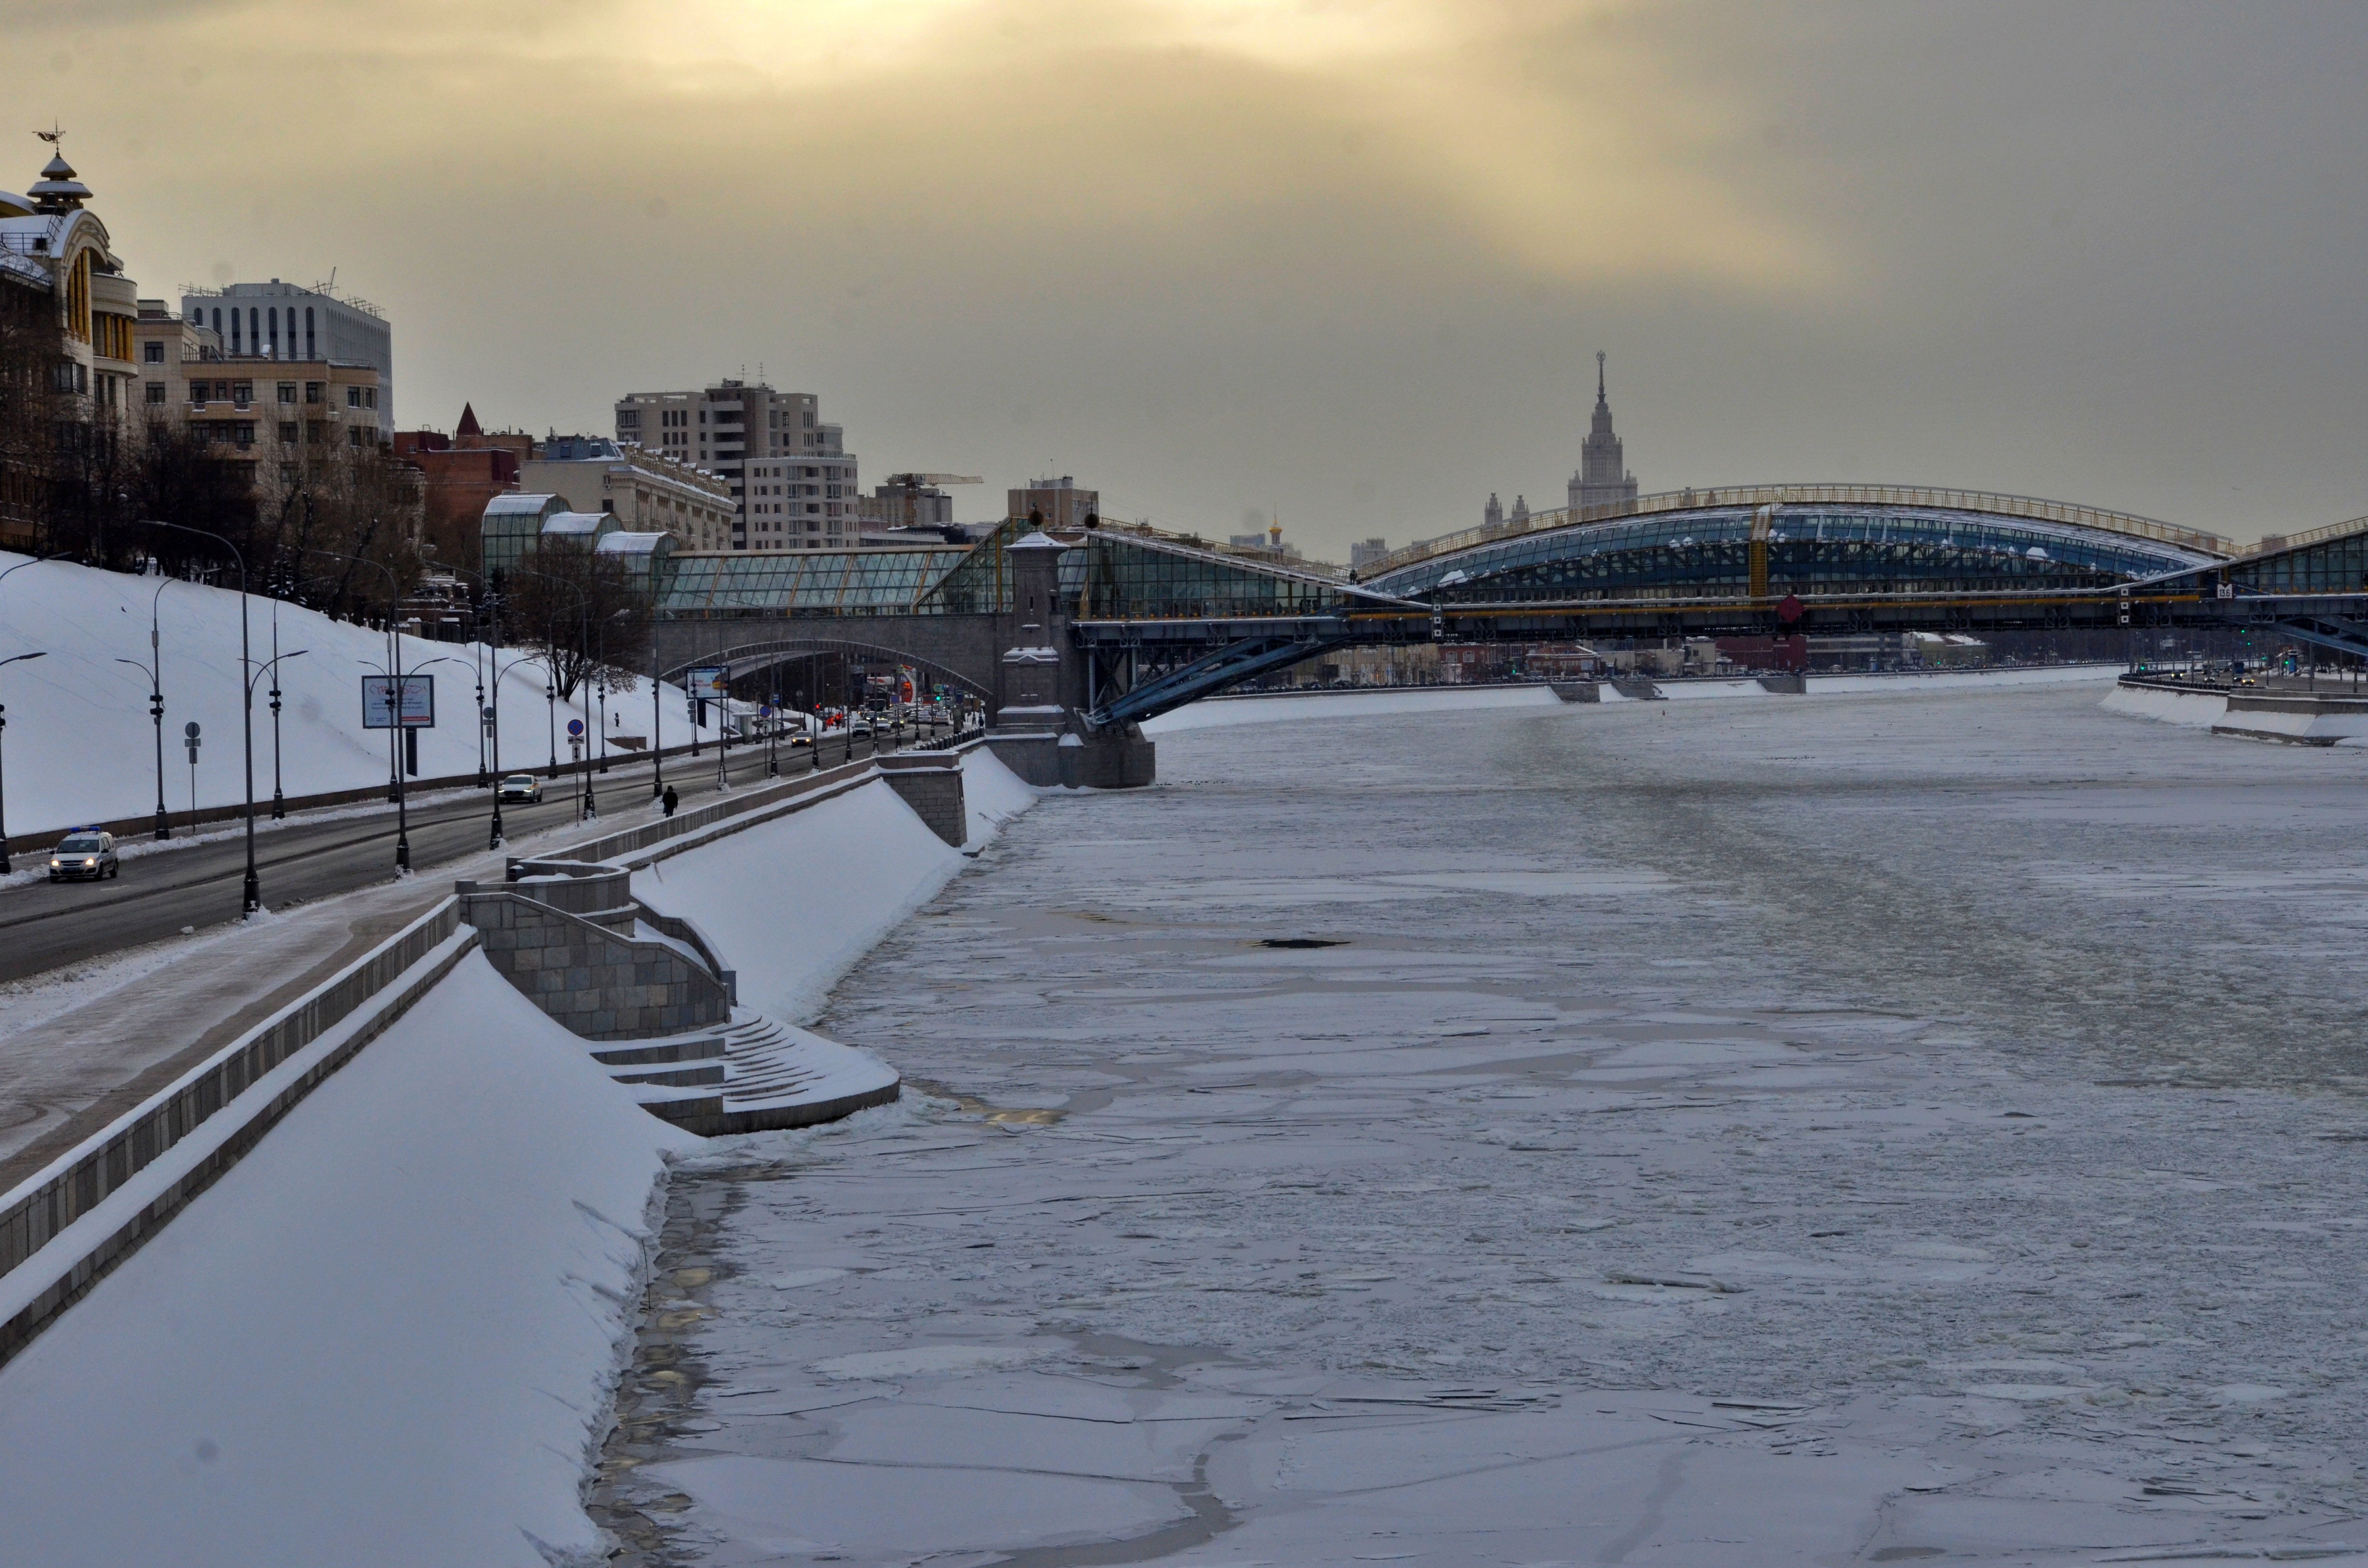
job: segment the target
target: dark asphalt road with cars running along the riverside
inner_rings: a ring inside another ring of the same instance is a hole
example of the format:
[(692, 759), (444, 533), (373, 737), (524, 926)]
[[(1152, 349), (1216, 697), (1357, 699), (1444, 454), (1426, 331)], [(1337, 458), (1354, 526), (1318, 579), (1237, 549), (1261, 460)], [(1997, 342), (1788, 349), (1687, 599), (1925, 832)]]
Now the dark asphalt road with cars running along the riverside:
[[(907, 739), (907, 744), (912, 741)], [(819, 765), (843, 763), (845, 751), (845, 737), (824, 737)], [(857, 746), (855, 756), (867, 753)], [(779, 758), (781, 777), (796, 777), (817, 765), (817, 748), (784, 746)], [(734, 746), (729, 767), (734, 784), (762, 779), (765, 746)], [(594, 798), (611, 815), (625, 808), (646, 810), (649, 763), (611, 763), (606, 775), (592, 775), (592, 779)], [(715, 793), (715, 753), (668, 758), (665, 782), (684, 803)], [(545, 782), (542, 805), (504, 805), (504, 836), (516, 841), (573, 822), (578, 789), (573, 775), (561, 775)], [(412, 872), (424, 874), (485, 848), (490, 796), (445, 798), (436, 805), (417, 805), (407, 815)], [(36, 865), (28, 848), (38, 848), (43, 862), (50, 853), (50, 843), (26, 846), (17, 841), (12, 848), (21, 853), (19, 869)], [(395, 812), (324, 822), (291, 817), (275, 831), (256, 836), (256, 874), (268, 910), (386, 881), (395, 874)], [(0, 893), (0, 981), (19, 981), (126, 947), (159, 943), (178, 936), (182, 926), (204, 931), (239, 919), (244, 879), (246, 838), (234, 834), (220, 843), (126, 860), (123, 874), (111, 881), (36, 881), (9, 888)]]

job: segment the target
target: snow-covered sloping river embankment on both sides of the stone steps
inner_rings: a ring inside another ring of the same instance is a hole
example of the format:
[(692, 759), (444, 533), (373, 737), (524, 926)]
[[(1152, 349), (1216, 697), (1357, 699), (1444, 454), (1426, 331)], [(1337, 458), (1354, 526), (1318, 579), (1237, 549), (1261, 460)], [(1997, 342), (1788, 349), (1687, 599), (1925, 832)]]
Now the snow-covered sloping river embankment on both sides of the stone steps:
[[(964, 779), (973, 843), (1035, 798)], [(867, 784), (644, 876), (793, 1018), (961, 865)], [(0, 1369), (0, 1556), (601, 1561), (580, 1490), (699, 1139), (583, 1045), (464, 957)]]

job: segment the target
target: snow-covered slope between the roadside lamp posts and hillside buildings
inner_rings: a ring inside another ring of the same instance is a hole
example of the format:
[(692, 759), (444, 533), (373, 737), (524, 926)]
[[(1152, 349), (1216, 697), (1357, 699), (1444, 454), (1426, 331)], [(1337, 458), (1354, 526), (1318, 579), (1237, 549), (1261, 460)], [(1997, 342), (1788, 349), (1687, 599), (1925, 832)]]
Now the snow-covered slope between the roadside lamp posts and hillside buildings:
[[(0, 552), (0, 571), (24, 561)], [(161, 599), (159, 599), (159, 587)], [(0, 668), (7, 703), (7, 827), (40, 836), (73, 822), (137, 817), (156, 805), (156, 739), (149, 725), (149, 604), (163, 642), (163, 798), (189, 810), (189, 763), (182, 725), (204, 730), (197, 803), (246, 798), (239, 765), (239, 595), (197, 583), (135, 578), (66, 561), (26, 566), (0, 583), (0, 658), (45, 658)], [(272, 649), (272, 602), (249, 599), (253, 658)], [(279, 777), (291, 796), (367, 789), (386, 779), (386, 732), (362, 730), (362, 675), (386, 666), (386, 637), (365, 625), (279, 606), (282, 658)], [(552, 756), (552, 732), (566, 758), (566, 727), (580, 703), (545, 703), (542, 666), (514, 663), (502, 649), (502, 763), (538, 767)], [(448, 661), (448, 663), (429, 663)], [(436, 677), (436, 730), (419, 737), (419, 775), (476, 770), (476, 649), (403, 640), (403, 668)], [(270, 677), (256, 682), (256, 796), (272, 791)], [(661, 699), (663, 744), (689, 739), (682, 692)], [(597, 722), (597, 720), (594, 720)], [(649, 734), (649, 685), (609, 703), (611, 734)]]

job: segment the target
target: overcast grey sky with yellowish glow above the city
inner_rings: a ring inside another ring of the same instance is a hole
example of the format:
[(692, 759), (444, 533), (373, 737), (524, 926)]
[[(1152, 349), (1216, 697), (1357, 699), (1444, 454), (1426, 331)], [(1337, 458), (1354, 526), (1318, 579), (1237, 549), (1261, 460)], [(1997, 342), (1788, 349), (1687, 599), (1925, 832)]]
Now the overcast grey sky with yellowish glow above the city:
[[(142, 294), (379, 303), (398, 422), (746, 369), (867, 481), (1312, 554), (1646, 490), (2368, 514), (2368, 7), (0, 0)], [(0, 142), (5, 147), (7, 142)]]

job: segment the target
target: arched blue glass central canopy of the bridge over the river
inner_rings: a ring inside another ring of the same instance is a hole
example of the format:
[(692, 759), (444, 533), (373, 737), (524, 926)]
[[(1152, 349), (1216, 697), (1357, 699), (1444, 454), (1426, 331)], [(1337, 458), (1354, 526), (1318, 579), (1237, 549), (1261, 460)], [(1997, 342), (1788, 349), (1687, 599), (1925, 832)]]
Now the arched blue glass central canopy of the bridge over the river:
[(2001, 595), (2115, 587), (2233, 552), (2214, 533), (2025, 495), (1750, 486), (1473, 528), (1364, 583), (1430, 604)]

